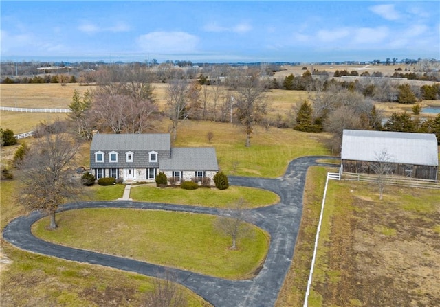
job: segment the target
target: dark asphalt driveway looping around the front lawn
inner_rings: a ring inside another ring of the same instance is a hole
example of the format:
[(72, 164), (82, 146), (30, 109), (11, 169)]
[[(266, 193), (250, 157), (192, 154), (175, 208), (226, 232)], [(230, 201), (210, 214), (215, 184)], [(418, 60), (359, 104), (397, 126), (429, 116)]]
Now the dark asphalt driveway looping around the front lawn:
[[(199, 273), (168, 269), (164, 266), (157, 266), (137, 260), (45, 242), (34, 237), (30, 232), (31, 225), (43, 217), (41, 212), (32, 212), (28, 216), (21, 216), (12, 220), (3, 230), (3, 238), (21, 249), (33, 251), (34, 253), (110, 266), (115, 269), (148, 276), (160, 276), (165, 270), (168, 270), (177, 276), (177, 282), (201, 295), (201, 297), (214, 306), (274, 306), (294, 255), (296, 237), (298, 236), (301, 214), (303, 212), (303, 190), (307, 168), (316, 165), (328, 166), (325, 163), (316, 162), (317, 159), (332, 158), (314, 156), (295, 159), (289, 163), (284, 176), (277, 179), (228, 177), (230, 185), (258, 187), (275, 192), (281, 197), (281, 202), (276, 205), (250, 210), (251, 223), (265, 229), (271, 236), (270, 249), (263, 268), (252, 280), (224, 280)], [(62, 205), (58, 211), (99, 207), (161, 209), (174, 212), (220, 214), (219, 209), (215, 208), (132, 201), (68, 203)]]

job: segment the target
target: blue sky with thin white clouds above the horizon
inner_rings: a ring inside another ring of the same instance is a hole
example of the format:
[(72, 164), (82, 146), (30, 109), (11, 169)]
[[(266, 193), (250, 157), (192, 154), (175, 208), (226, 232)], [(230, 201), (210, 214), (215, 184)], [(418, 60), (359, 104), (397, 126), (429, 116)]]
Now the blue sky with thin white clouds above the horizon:
[(440, 1), (1, 1), (2, 60), (436, 58)]

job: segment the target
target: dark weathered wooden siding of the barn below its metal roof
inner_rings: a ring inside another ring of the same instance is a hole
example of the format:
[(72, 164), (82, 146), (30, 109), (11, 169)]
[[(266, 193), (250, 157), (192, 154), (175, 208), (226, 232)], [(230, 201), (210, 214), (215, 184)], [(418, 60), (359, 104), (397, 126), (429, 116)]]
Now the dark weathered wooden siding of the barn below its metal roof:
[[(370, 161), (342, 160), (344, 172), (375, 174)], [(437, 180), (437, 166), (416, 166), (411, 164), (391, 163), (392, 173), (399, 176)]]

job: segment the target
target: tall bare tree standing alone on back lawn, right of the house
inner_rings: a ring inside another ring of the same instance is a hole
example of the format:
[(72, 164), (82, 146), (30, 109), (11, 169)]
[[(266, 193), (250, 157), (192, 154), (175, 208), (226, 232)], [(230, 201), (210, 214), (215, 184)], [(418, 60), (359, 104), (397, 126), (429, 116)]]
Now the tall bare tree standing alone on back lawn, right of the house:
[(254, 127), (261, 124), (267, 114), (268, 103), (263, 89), (259, 87), (258, 76), (246, 78), (245, 86), (237, 91), (235, 114), (246, 133), (246, 147), (250, 147), (250, 138)]

